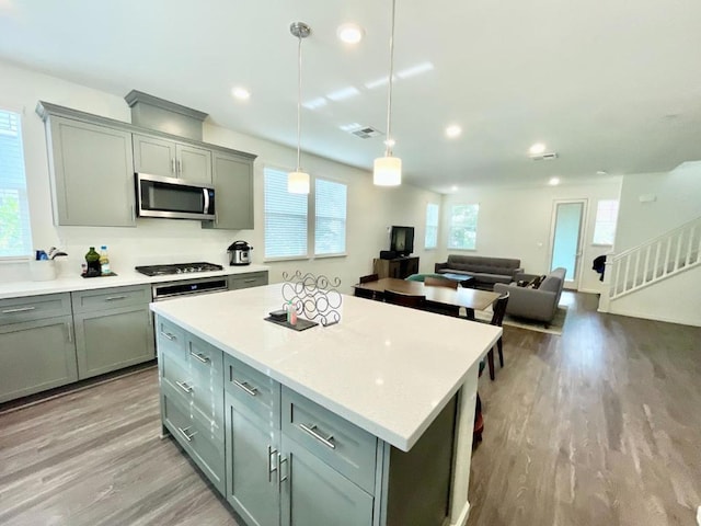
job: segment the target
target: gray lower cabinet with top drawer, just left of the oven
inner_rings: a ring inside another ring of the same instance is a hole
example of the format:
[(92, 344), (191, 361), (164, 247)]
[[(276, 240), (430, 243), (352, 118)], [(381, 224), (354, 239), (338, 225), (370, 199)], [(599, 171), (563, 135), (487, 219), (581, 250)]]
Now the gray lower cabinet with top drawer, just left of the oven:
[(72, 293), (80, 379), (153, 359), (148, 285)]

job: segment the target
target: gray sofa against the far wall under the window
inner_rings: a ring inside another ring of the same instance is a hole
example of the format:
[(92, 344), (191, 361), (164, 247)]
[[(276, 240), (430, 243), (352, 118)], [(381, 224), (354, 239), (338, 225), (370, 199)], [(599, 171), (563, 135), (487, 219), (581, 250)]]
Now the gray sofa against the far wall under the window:
[(448, 255), (445, 263), (436, 263), (437, 274), (467, 274), (474, 278), (475, 288), (489, 288), (495, 283), (510, 283), (514, 276), (524, 272), (521, 260), (485, 258), (482, 255)]

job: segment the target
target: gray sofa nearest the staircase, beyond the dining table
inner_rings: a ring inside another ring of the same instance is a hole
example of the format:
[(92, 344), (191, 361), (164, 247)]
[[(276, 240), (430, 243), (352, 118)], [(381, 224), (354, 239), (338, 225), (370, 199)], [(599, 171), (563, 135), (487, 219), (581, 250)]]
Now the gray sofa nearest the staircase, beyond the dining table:
[(550, 324), (558, 311), (558, 304), (565, 283), (565, 268), (559, 267), (552, 271), (540, 283), (538, 288), (519, 287), (518, 281), (530, 282), (533, 274), (517, 274), (514, 283), (494, 285), (494, 291), (509, 293), (506, 313), (529, 320), (543, 321), (545, 327)]

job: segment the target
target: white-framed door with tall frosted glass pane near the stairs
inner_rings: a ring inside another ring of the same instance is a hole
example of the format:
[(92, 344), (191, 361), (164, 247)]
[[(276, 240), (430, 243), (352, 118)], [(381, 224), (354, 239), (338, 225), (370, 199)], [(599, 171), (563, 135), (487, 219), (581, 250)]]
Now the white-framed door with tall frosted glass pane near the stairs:
[(565, 287), (577, 289), (582, 259), (586, 199), (555, 201), (553, 206), (550, 270), (566, 268)]

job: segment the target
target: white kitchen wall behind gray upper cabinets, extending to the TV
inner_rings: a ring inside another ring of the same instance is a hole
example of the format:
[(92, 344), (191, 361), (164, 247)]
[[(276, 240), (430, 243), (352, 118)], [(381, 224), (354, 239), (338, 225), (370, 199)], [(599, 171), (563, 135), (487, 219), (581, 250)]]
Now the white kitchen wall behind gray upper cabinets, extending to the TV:
[[(198, 221), (138, 219), (137, 228), (55, 227), (50, 208), (49, 173), (44, 123), (35, 114), (36, 102), (44, 100), (88, 113), (130, 122), (130, 111), (122, 95), (96, 91), (50, 76), (0, 61), (0, 106), (23, 114), (24, 157), (32, 238), (36, 248), (62, 247), (69, 259), (62, 261), (65, 274), (77, 274), (90, 245), (107, 244), (112, 268), (131, 268), (135, 264), (176, 261), (210, 261), (225, 264), (227, 247), (238, 239), (253, 244), (254, 263), (263, 262), (263, 167), (266, 163), (289, 169), (296, 151), (265, 140), (248, 137), (214, 125), (205, 125), (206, 141), (256, 153), (255, 225), (253, 231), (202, 229)], [(138, 87), (135, 87), (138, 88)], [(158, 93), (154, 93), (158, 95)], [(342, 289), (350, 290), (358, 276), (372, 270), (372, 258), (389, 248), (387, 227), (397, 224), (416, 227), (416, 255), (422, 268), (433, 268), (435, 252), (423, 252), (426, 202), (438, 203), (438, 194), (402, 185), (378, 188), (368, 172), (321, 158), (303, 156), (303, 165), (312, 175), (330, 176), (348, 184), (347, 256), (273, 263), (271, 281), (279, 281), (283, 271), (301, 270), (342, 279)], [(0, 264), (0, 282), (28, 279), (28, 265)]]

